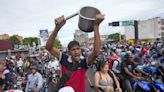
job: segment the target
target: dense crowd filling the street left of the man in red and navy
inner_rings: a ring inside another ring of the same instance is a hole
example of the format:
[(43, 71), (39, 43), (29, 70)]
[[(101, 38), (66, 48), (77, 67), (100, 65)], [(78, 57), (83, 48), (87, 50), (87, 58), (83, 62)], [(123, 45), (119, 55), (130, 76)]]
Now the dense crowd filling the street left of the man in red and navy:
[(33, 92), (30, 90), (35, 89), (38, 92), (43, 90), (45, 78), (52, 77), (52, 71), (59, 71), (60, 65), (56, 58), (43, 50), (30, 55), (17, 53), (15, 56), (7, 56), (0, 62), (0, 70), (1, 90)]

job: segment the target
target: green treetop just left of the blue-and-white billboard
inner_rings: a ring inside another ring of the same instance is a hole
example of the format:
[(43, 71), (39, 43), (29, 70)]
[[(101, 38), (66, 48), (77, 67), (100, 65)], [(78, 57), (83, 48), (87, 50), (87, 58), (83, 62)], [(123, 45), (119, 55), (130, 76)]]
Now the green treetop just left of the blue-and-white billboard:
[(30, 46), (33, 46), (33, 42), (36, 44), (36, 45), (38, 45), (39, 43), (38, 43), (38, 41), (39, 41), (39, 38), (37, 38), (37, 37), (27, 37), (27, 38), (24, 38), (23, 39), (23, 45), (28, 45), (28, 44), (30, 44)]

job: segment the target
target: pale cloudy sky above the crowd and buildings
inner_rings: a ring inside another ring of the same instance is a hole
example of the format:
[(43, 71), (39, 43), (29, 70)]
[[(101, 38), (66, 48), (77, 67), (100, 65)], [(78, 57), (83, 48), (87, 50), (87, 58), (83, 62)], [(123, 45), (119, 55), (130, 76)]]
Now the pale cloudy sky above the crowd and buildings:
[[(100, 34), (123, 32), (124, 27), (110, 27), (109, 22), (147, 20), (164, 17), (164, 0), (0, 0), (0, 34), (18, 34), (38, 37), (39, 30), (52, 31), (54, 19), (79, 12), (82, 7), (95, 7), (105, 14), (100, 24)], [(59, 40), (67, 44), (78, 28), (79, 16), (66, 21), (59, 31)], [(93, 32), (89, 33), (93, 36)]]

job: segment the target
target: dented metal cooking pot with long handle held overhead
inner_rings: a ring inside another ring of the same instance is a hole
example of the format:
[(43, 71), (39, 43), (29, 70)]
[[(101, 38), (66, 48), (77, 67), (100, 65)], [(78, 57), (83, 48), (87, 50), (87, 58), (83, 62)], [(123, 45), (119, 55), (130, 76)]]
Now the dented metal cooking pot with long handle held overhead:
[[(86, 6), (81, 8), (79, 12), (66, 17), (65, 20), (68, 20), (72, 17), (75, 17), (76, 15), (79, 15), (79, 23), (78, 23), (79, 29), (83, 32), (92, 32), (96, 15), (100, 13), (101, 12), (98, 9), (94, 7)], [(57, 23), (56, 20), (55, 22)]]

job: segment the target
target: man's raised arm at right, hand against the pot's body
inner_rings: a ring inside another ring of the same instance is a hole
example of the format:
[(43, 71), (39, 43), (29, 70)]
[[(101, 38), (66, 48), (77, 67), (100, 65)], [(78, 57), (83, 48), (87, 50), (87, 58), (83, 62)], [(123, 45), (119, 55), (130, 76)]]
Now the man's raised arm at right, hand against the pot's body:
[(93, 44), (93, 52), (88, 57), (88, 65), (92, 65), (94, 60), (100, 53), (101, 41), (99, 34), (99, 24), (104, 20), (104, 15), (98, 14), (96, 15), (96, 20), (94, 23), (94, 44)]

